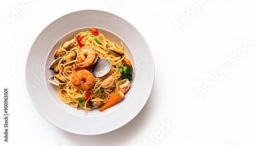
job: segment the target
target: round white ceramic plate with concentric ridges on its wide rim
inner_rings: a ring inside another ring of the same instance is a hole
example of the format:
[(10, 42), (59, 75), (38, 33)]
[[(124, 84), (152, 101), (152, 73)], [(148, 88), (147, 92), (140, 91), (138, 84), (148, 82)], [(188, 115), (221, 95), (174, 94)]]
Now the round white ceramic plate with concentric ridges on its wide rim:
[[(124, 99), (103, 112), (77, 110), (63, 103), (55, 86), (47, 80), (54, 74), (48, 69), (54, 60), (54, 51), (90, 27), (97, 28), (111, 41), (122, 42), (134, 69), (131, 88)], [(145, 105), (153, 81), (153, 56), (142, 35), (124, 19), (97, 10), (73, 12), (52, 22), (36, 38), (26, 66), (27, 89), (36, 109), (56, 127), (81, 135), (110, 132), (128, 123)]]

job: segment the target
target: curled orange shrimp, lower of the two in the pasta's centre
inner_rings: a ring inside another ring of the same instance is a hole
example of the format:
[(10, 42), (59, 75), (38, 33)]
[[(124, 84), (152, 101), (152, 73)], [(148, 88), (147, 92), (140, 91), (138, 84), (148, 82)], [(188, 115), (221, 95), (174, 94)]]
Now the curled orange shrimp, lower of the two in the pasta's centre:
[(90, 89), (95, 83), (93, 74), (86, 69), (75, 71), (71, 78), (72, 84), (82, 90)]

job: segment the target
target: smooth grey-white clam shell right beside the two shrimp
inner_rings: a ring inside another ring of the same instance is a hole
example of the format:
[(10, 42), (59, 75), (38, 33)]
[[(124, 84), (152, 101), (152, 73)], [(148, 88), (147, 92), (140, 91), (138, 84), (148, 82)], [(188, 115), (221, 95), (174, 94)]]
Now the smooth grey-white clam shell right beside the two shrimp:
[(111, 69), (111, 62), (107, 58), (101, 58), (96, 62), (96, 64), (93, 66), (93, 75), (96, 78), (100, 78), (105, 76), (109, 73)]

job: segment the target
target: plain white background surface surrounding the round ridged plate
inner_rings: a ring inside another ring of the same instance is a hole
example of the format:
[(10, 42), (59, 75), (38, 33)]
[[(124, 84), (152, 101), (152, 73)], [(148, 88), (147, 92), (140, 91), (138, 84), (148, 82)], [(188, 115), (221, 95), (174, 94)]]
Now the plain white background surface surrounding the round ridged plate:
[[(2, 98), (4, 87), (10, 95), (9, 142), (1, 116), (0, 145), (256, 145), (255, 1), (22, 2), (0, 1), (0, 89)], [(153, 89), (141, 112), (123, 127), (95, 136), (49, 123), (25, 83), (27, 56), (40, 32), (63, 15), (87, 9), (131, 22), (155, 63)], [(12, 18), (14, 11), (19, 13)]]

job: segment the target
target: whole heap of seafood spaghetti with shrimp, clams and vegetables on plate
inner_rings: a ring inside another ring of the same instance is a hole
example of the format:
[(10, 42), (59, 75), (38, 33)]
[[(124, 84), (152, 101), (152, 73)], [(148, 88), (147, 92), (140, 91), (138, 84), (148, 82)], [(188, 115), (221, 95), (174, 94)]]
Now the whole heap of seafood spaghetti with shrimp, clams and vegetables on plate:
[(121, 42), (111, 42), (96, 28), (74, 34), (52, 55), (49, 78), (64, 103), (86, 111), (108, 109), (124, 97), (132, 80), (132, 64)]

